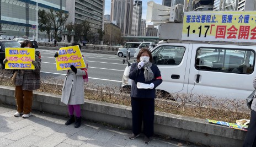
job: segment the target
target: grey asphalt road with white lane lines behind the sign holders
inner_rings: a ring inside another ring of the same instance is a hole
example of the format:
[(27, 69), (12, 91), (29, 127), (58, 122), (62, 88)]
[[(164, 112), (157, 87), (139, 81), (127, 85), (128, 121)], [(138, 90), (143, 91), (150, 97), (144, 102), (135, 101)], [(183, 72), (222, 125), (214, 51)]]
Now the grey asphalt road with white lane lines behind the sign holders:
[[(66, 71), (57, 71), (54, 50), (42, 50), (41, 52), (41, 78), (56, 77), (64, 79)], [(88, 61), (88, 75), (89, 81), (100, 86), (120, 86), (122, 74), (126, 64), (122, 64), (122, 58), (116, 55), (106, 55), (99, 53), (84, 53)]]

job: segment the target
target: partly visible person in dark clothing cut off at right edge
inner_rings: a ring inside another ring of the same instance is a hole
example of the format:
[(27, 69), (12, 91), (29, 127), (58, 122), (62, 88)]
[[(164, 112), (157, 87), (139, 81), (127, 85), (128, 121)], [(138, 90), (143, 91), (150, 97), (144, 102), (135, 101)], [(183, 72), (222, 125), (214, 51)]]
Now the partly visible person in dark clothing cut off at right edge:
[[(253, 87), (256, 89), (256, 77), (253, 80)], [(250, 108), (252, 108), (252, 111), (250, 112), (250, 123), (246, 139), (244, 139), (243, 147), (256, 146), (256, 99), (253, 99), (252, 106)]]

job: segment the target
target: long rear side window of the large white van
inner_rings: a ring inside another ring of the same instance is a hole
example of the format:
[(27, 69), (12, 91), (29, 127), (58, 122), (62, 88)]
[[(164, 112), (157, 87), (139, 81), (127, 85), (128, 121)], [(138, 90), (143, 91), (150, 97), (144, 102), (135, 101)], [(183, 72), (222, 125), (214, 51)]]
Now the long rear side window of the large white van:
[(252, 50), (199, 48), (195, 68), (214, 72), (251, 74), (254, 69), (255, 52)]

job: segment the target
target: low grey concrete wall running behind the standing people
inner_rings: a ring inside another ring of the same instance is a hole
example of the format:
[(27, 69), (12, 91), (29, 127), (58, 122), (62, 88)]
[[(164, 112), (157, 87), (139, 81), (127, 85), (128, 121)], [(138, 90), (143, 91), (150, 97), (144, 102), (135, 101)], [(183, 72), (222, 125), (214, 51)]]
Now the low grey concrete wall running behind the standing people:
[[(0, 85), (0, 101), (15, 105), (14, 88)], [(33, 108), (56, 115), (68, 115), (67, 106), (60, 101), (60, 95), (33, 91)], [(129, 106), (85, 100), (82, 117), (106, 122), (125, 128), (132, 127)], [(242, 146), (246, 132), (209, 124), (204, 119), (156, 112), (154, 133), (210, 146)]]

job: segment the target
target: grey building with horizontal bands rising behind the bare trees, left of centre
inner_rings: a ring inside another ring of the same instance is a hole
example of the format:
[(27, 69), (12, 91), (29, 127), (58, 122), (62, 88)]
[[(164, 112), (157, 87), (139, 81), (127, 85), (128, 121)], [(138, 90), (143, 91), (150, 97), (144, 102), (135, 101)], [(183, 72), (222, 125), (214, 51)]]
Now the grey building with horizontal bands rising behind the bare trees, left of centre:
[(90, 23), (90, 31), (103, 29), (104, 0), (66, 0), (66, 10), (70, 12), (67, 23), (81, 24), (86, 20)]

